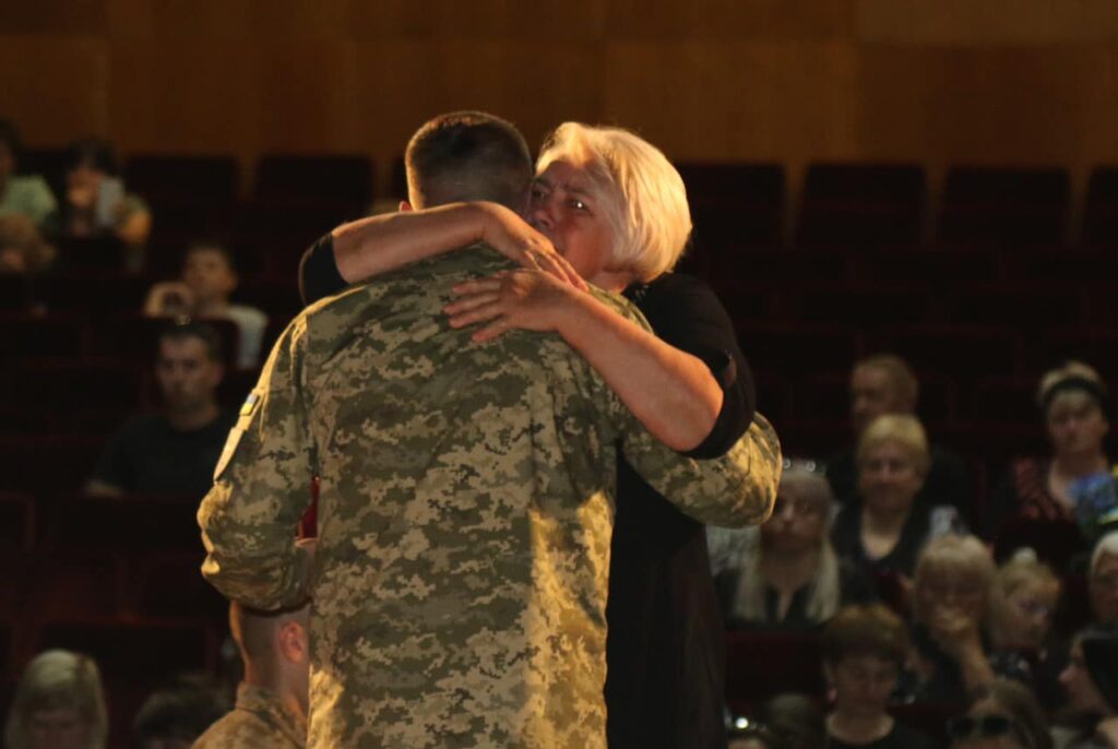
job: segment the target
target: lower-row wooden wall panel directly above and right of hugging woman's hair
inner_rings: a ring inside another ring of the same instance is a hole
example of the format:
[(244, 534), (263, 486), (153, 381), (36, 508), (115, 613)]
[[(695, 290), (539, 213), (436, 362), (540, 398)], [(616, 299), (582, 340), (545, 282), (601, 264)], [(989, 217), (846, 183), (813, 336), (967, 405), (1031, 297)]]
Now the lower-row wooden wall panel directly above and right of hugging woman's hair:
[(605, 118), (676, 159), (832, 158), (853, 150), (854, 67), (844, 44), (617, 44)]

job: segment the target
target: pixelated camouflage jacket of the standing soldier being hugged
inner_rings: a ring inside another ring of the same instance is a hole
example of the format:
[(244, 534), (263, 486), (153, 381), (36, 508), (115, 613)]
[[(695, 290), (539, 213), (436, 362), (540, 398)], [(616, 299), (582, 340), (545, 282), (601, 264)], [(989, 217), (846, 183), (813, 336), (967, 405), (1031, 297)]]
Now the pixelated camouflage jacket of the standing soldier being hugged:
[[(452, 285), (504, 267), (461, 250), (305, 310), (199, 510), (202, 572), (226, 596), (313, 595), (311, 747), (604, 747), (615, 449), (700, 521), (771, 511), (764, 418), (724, 457), (689, 459), (559, 336), (452, 329)], [(294, 538), (313, 473), (312, 580)]]

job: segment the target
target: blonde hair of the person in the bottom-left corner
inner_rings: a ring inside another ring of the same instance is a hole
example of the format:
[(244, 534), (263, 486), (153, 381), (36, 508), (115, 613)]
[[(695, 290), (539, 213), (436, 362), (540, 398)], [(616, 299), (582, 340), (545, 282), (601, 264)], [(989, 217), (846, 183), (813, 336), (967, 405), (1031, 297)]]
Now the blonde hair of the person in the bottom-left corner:
[(40, 710), (68, 709), (89, 723), (86, 749), (104, 749), (108, 738), (108, 713), (97, 664), (87, 655), (69, 651), (45, 651), (35, 656), (16, 686), (4, 740), (8, 749), (31, 746), (31, 715)]

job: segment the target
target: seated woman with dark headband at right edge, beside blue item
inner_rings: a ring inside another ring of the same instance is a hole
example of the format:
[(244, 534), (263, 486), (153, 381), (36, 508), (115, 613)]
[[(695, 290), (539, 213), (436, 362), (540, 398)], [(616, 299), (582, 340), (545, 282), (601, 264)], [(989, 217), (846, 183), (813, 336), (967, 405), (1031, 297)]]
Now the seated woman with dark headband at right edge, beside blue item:
[[(1083, 480), (1109, 477), (1112, 467), (1102, 449), (1110, 432), (1110, 394), (1091, 367), (1069, 361), (1041, 378), (1036, 401), (1044, 416), (1052, 455), (1018, 458), (1003, 476), (991, 503), (986, 527), (996, 532), (1006, 518), (1074, 520), (1089, 534), (1091, 508), (1078, 506)], [(1112, 486), (1112, 483), (1111, 483)], [(1112, 490), (1111, 490), (1112, 497)]]

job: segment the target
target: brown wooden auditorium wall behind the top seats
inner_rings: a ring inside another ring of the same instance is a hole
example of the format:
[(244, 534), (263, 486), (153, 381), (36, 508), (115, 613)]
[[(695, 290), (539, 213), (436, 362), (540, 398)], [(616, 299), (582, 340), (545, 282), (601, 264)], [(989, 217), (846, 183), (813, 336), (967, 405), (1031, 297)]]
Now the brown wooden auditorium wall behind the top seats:
[[(432, 114), (533, 143), (619, 123), (675, 159), (1118, 162), (1114, 0), (37, 0), (0, 3), (30, 145), (364, 152)], [(387, 176), (382, 174), (381, 179)]]

